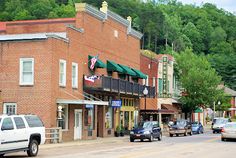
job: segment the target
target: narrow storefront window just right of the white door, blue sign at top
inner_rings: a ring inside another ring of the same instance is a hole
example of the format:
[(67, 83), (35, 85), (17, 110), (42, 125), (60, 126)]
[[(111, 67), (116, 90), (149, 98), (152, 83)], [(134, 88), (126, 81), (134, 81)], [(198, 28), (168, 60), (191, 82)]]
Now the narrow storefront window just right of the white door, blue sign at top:
[(85, 126), (88, 126), (88, 130), (94, 130), (94, 106), (86, 105), (85, 109)]

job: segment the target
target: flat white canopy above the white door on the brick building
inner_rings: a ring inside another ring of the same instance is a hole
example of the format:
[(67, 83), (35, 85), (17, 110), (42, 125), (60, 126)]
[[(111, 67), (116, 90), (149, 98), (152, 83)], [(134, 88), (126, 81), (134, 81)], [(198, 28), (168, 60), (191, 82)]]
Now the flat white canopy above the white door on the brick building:
[(93, 104), (93, 105), (108, 105), (108, 101), (93, 101), (93, 100), (69, 100), (57, 99), (58, 104)]

